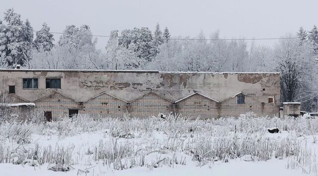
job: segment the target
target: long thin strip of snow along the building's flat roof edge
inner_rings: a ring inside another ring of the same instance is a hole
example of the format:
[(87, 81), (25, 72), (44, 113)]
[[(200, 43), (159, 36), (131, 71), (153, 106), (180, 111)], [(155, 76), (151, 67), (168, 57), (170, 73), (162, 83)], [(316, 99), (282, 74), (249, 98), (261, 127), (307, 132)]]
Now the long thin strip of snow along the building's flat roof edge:
[(87, 70), (87, 69), (7, 69), (0, 71), (46, 71), (46, 72), (145, 72), (145, 73), (205, 73), (205, 74), (280, 74), (279, 72), (205, 72), (205, 71), (158, 71), (158, 70)]

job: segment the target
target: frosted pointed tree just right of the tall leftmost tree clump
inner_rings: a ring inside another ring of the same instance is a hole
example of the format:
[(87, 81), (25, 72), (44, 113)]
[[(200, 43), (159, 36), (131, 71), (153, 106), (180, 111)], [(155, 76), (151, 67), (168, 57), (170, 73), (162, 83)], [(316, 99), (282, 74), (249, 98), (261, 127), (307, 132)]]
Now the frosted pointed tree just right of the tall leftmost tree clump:
[(37, 51), (51, 51), (53, 48), (54, 38), (53, 34), (50, 33), (50, 27), (46, 24), (42, 24), (42, 28), (36, 31), (36, 38), (33, 42), (33, 47)]

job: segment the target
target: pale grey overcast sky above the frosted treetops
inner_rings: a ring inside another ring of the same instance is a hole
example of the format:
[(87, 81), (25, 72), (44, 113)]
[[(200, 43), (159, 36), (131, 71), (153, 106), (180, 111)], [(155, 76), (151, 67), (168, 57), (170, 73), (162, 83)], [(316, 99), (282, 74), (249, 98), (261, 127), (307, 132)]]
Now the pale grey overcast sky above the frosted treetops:
[[(23, 20), (28, 18), (34, 30), (43, 22), (53, 32), (87, 24), (94, 35), (142, 26), (153, 31), (159, 22), (171, 36), (195, 37), (201, 30), (209, 36), (219, 29), (222, 38), (271, 38), (318, 24), (318, 0), (1, 0), (1, 19), (11, 7)], [(102, 48), (107, 39), (98, 41)]]

